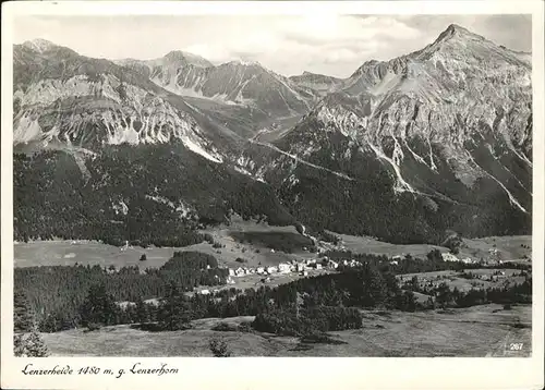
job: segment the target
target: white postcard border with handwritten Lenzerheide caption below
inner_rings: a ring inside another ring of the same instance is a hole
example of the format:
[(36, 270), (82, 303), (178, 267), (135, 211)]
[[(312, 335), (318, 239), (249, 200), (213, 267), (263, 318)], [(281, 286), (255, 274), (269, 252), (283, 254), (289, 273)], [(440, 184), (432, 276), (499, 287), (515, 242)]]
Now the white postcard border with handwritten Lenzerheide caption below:
[[(532, 356), (465, 357), (47, 357), (13, 356), (12, 26), (17, 15), (187, 14), (532, 14), (533, 306)], [(21, 1), (2, 3), (1, 387), (17, 389), (540, 389), (544, 373), (544, 2), (543, 1)], [(177, 375), (28, 376), (27, 364), (129, 370), (135, 363)]]

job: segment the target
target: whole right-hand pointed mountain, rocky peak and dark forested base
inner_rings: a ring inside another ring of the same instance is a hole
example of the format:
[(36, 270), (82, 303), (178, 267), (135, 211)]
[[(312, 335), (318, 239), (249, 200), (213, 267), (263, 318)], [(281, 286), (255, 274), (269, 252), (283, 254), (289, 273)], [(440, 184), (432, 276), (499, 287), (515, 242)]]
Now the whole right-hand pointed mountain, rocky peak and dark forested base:
[(531, 229), (531, 64), (457, 25), (365, 62), (274, 146), (244, 161), (301, 220), (403, 242)]

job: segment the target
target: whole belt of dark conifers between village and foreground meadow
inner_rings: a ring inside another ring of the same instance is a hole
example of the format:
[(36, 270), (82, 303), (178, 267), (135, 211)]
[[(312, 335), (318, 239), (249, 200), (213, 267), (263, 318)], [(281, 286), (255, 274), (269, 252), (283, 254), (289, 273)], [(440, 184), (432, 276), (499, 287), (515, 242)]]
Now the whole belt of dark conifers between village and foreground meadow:
[[(332, 330), (358, 322), (351, 307), (416, 309), (412, 293), (402, 292), (392, 273), (374, 266), (299, 279), (272, 289), (229, 289), (191, 297), (185, 294), (199, 284), (225, 284), (226, 278), (227, 270), (217, 268), (213, 256), (183, 252), (161, 268), (145, 272), (137, 267), (114, 272), (98, 266), (17, 268), (15, 288), (28, 297), (43, 331), (144, 320), (173, 330), (196, 318), (267, 314), (256, 322), (261, 327), (275, 317), (283, 322), (295, 312), (294, 321), (302, 321), (302, 329), (307, 318), (329, 324), (327, 329)], [(159, 297), (159, 304), (144, 303), (150, 297)], [(120, 302), (126, 305), (117, 304)]]

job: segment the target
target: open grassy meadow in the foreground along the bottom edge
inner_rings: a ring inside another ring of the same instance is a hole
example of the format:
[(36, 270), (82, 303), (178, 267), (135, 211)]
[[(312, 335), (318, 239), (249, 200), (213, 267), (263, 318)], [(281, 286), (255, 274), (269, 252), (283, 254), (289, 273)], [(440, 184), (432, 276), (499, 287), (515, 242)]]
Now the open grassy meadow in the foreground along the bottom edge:
[[(193, 329), (148, 332), (130, 325), (86, 332), (44, 333), (53, 356), (211, 356), (208, 342), (221, 337), (233, 356), (516, 356), (531, 355), (532, 307), (482, 305), (446, 312), (362, 312), (363, 328), (330, 332), (343, 344), (303, 344), (298, 338), (268, 333), (214, 331), (218, 322), (253, 317), (206, 318)], [(510, 351), (522, 343), (521, 351)]]

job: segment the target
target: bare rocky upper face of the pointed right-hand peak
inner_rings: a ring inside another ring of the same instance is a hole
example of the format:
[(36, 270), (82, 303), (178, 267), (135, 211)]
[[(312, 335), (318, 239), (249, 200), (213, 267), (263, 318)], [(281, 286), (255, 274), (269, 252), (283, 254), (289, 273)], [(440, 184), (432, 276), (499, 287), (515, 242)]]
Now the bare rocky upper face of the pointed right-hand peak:
[[(318, 124), (315, 137), (339, 132), (384, 161), (398, 192), (422, 186), (405, 162), (440, 174), (440, 161), (470, 188), (479, 178), (494, 180), (513, 207), (528, 212), (530, 175), (521, 180), (521, 171), (532, 168), (530, 77), (531, 64), (520, 53), (452, 25), (423, 50), (364, 63), (306, 121)], [(301, 127), (300, 143), (288, 135), (290, 148), (305, 155), (320, 149), (319, 143), (308, 146), (312, 136)]]

